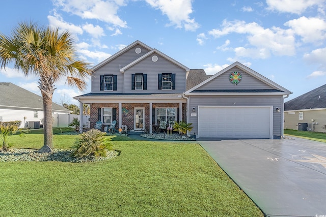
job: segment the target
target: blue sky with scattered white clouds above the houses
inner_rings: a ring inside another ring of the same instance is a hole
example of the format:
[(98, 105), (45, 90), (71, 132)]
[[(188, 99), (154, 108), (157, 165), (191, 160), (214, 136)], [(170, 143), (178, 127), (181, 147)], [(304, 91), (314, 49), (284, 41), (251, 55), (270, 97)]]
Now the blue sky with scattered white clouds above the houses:
[[(29, 0), (3, 1), (0, 32), (33, 21), (68, 30), (79, 58), (93, 66), (140, 40), (190, 69), (215, 74), (239, 61), (292, 91), (326, 83), (326, 0)], [(37, 78), (7, 68), (0, 82), (40, 95)], [(56, 83), (53, 102), (80, 92)]]

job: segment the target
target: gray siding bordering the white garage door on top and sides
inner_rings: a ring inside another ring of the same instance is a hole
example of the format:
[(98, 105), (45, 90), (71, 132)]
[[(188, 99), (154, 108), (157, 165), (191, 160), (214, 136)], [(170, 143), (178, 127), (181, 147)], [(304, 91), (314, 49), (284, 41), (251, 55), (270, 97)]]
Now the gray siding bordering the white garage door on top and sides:
[[(234, 103), (236, 103), (234, 105)], [(281, 112), (276, 112), (276, 108), (282, 108), (282, 96), (191, 96), (189, 97), (188, 121), (193, 123), (191, 134), (198, 134), (198, 117), (192, 117), (192, 108), (198, 106), (273, 106), (273, 135), (282, 135)]]

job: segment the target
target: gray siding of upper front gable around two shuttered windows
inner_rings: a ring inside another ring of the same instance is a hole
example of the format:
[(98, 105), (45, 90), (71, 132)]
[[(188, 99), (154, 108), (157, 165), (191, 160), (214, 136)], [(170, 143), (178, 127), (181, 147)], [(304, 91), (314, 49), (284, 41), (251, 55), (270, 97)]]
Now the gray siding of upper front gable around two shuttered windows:
[[(156, 55), (158, 60), (152, 61), (152, 56)], [(138, 64), (127, 69), (125, 73), (125, 94), (169, 94), (169, 93), (182, 93), (185, 91), (185, 76), (184, 69), (173, 64), (170, 60), (153, 53), (140, 61)], [(136, 73), (147, 74), (147, 90), (132, 90), (131, 89), (131, 75)], [(158, 74), (172, 73), (175, 74), (175, 89), (162, 90), (158, 89)]]

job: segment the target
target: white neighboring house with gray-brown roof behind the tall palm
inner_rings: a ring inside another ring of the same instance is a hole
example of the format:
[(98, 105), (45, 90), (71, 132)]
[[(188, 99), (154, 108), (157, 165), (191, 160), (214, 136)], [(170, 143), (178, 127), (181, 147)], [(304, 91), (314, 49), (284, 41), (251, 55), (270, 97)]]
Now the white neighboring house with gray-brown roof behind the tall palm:
[[(20, 127), (40, 128), (43, 119), (42, 97), (13, 83), (0, 82), (0, 121), (21, 120)], [(52, 114), (70, 114), (52, 103)]]

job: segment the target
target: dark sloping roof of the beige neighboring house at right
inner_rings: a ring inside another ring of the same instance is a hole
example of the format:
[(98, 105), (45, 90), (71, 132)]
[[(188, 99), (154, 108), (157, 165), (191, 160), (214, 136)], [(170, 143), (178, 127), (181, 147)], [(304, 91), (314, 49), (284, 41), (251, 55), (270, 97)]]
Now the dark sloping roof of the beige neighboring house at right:
[(284, 110), (326, 108), (326, 84), (284, 103)]

